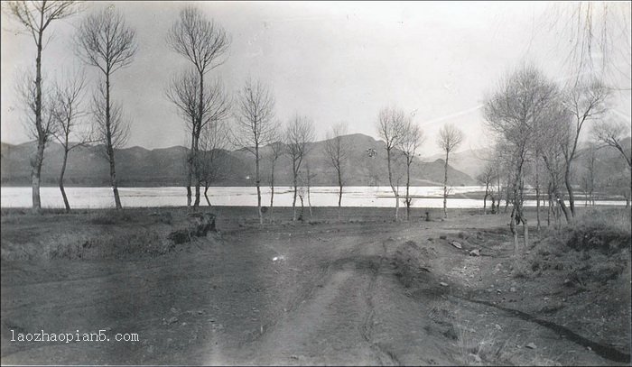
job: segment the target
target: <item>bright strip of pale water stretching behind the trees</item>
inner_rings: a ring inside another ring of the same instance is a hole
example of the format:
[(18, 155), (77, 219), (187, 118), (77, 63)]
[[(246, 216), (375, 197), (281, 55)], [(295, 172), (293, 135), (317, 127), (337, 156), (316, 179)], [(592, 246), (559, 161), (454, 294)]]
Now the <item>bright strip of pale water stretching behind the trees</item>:
[[(123, 206), (186, 206), (187, 197), (184, 188), (118, 188)], [(461, 186), (451, 188), (448, 207), (482, 207), (482, 195), (477, 194), (484, 188), (479, 186)], [(203, 188), (202, 188), (203, 191)], [(270, 203), (270, 188), (262, 188), (262, 203)], [(394, 206), (395, 199), (389, 187), (349, 187), (344, 188), (342, 206)], [(404, 188), (401, 189), (404, 193)], [(2, 188), (2, 207), (30, 207), (31, 188)], [(111, 188), (66, 188), (70, 206), (77, 208), (114, 207)], [(59, 188), (42, 188), (42, 206), (63, 207)], [(414, 207), (442, 207), (443, 188), (414, 187), (411, 196)], [(480, 197), (480, 198), (470, 198)], [(307, 205), (307, 197), (303, 197)], [(221, 187), (209, 188), (209, 200), (214, 206), (256, 206), (256, 188)], [(293, 189), (274, 188), (274, 206), (292, 206)], [(581, 196), (578, 198), (581, 203)], [(297, 205), (300, 205), (297, 198)], [(488, 201), (488, 205), (489, 205)], [(504, 204), (504, 202), (503, 202)], [(623, 201), (600, 200), (598, 205), (625, 205)], [(206, 205), (203, 195), (200, 205)], [(338, 206), (338, 188), (311, 188), (312, 206)], [(404, 202), (401, 203), (404, 206)], [(535, 206), (534, 200), (527, 200), (526, 206)]]

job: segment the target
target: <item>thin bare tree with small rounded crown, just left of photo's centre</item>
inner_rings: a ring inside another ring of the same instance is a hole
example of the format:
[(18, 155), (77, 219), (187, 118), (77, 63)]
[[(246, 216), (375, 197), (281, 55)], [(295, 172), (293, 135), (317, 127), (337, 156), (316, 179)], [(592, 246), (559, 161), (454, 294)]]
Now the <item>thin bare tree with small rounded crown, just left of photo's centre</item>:
[[(287, 124), (284, 133), (287, 153), (292, 161), (294, 196), (292, 200), (292, 220), (296, 221), (296, 197), (299, 194), (299, 174), (302, 161), (308, 153), (308, 144), (314, 140), (314, 126), (311, 120), (302, 115), (294, 115)], [(302, 203), (302, 196), (301, 196)]]

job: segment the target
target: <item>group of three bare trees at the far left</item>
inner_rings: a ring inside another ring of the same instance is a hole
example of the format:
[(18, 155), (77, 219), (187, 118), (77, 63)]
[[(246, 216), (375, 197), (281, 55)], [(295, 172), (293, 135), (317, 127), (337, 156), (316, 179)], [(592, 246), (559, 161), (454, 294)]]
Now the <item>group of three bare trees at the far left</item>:
[(83, 103), (86, 81), (82, 73), (64, 76), (67, 78), (54, 82), (54, 87), (43, 86), (42, 78), (43, 46), (50, 41), (51, 23), (78, 13), (79, 5), (73, 1), (15, 1), (7, 2), (6, 9), (23, 30), (33, 36), (37, 50), (35, 76), (27, 76), (20, 87), (27, 106), (28, 131), (37, 143), (31, 160), (33, 209), (42, 208), (42, 162), (44, 149), (52, 136), (64, 150), (59, 185), (66, 210), (70, 210), (70, 203), (63, 177), (68, 156), (70, 151), (88, 142), (103, 142), (116, 207), (122, 207), (116, 182), (115, 149), (125, 143), (129, 124), (122, 107), (111, 96), (111, 77), (134, 60), (137, 50), (135, 31), (126, 25), (123, 15), (111, 7), (88, 14), (79, 23), (73, 37), (76, 54), (86, 65), (97, 68), (100, 74), (88, 109)]

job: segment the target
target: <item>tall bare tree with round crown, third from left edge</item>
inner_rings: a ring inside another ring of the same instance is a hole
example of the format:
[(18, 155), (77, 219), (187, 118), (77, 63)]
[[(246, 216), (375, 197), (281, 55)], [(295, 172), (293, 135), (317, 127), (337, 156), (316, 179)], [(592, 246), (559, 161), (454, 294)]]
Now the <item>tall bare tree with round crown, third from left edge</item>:
[(79, 24), (75, 35), (79, 58), (98, 68), (105, 78), (93, 102), (101, 138), (106, 146), (116, 209), (123, 206), (118, 196), (114, 149), (125, 143), (129, 126), (123, 121), (121, 107), (112, 101), (110, 78), (118, 69), (125, 68), (134, 60), (137, 50), (135, 36), (135, 30), (127, 26), (123, 14), (112, 7), (88, 15)]

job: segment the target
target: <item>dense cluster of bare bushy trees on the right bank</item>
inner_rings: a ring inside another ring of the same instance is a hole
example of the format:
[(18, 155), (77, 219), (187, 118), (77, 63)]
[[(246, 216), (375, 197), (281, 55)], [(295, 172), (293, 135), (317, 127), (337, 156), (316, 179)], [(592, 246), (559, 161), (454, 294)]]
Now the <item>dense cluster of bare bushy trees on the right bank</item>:
[[(495, 164), (510, 172), (505, 183), (507, 203), (512, 205), (510, 227), (516, 254), (517, 225), (522, 224), (525, 246), (528, 243), (528, 221), (523, 208), (527, 176), (534, 178), (537, 228), (541, 221), (540, 188), (543, 181), (549, 207), (559, 209), (566, 222), (572, 223), (576, 216), (572, 172), (580, 156), (579, 142), (586, 126), (594, 124), (597, 139), (626, 156), (627, 151), (620, 147), (621, 128), (604, 122), (608, 97), (609, 88), (597, 78), (579, 79), (562, 87), (534, 66), (525, 66), (508, 74), (486, 97), (484, 115), (488, 127), (497, 135)], [(616, 138), (609, 139), (608, 132)], [(594, 168), (594, 157), (592, 165)], [(540, 176), (543, 166), (544, 179)], [(488, 167), (479, 176), (479, 181), (486, 185), (486, 198), (491, 182), (495, 177), (500, 178), (499, 172)], [(589, 186), (594, 187), (594, 176), (589, 181)]]

